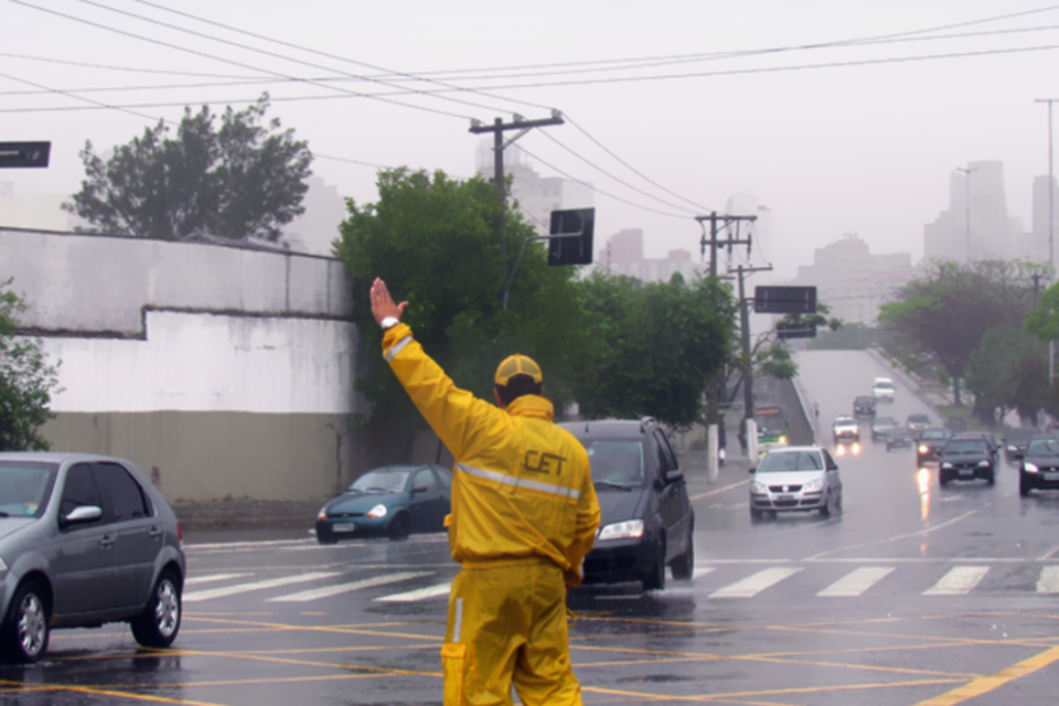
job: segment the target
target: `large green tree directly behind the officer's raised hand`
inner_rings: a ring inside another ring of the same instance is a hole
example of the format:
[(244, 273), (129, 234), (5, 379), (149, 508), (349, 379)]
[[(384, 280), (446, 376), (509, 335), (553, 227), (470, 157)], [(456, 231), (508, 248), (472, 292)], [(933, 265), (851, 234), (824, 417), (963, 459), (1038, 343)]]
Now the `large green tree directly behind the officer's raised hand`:
[[(378, 173), (378, 201), (347, 202), (336, 252), (353, 275), (354, 322), (368, 355), (382, 333), (367, 306), (375, 277), (407, 300), (404, 321), (457, 385), (492, 399), (492, 373), (506, 355), (541, 363), (546, 395), (557, 409), (570, 400), (574, 361), (587, 345), (574, 271), (548, 267), (547, 252), (530, 243), (502, 307), (504, 276), (496, 223), (504, 214), (509, 267), (535, 236), (518, 212), (498, 199), (492, 184), (407, 169)], [(375, 356), (357, 381), (375, 420), (419, 428), (396, 377)]]

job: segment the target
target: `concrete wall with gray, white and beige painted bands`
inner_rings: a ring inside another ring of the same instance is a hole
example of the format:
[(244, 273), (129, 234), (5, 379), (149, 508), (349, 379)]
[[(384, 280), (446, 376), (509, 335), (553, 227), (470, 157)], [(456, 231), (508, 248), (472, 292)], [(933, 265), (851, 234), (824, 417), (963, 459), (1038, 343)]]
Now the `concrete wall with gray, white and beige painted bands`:
[(56, 450), (129, 458), (171, 500), (327, 498), (407, 453), (350, 430), (366, 410), (339, 260), (0, 228), (10, 277), (22, 331), (61, 361)]

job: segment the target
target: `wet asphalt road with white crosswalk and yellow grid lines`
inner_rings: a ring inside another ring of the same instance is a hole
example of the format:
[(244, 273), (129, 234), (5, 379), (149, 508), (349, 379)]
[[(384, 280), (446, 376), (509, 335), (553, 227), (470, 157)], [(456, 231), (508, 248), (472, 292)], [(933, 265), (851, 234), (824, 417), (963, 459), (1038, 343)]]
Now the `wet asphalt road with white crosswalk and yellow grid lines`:
[[(857, 352), (799, 363), (825, 429), (885, 374)], [(932, 414), (897, 382), (880, 414)], [(1053, 703), (1059, 494), (1020, 498), (1007, 463), (993, 488), (942, 491), (911, 451), (864, 439), (837, 459), (828, 520), (751, 524), (742, 468), (707, 484), (689, 464), (695, 578), (570, 596), (585, 703)], [(57, 631), (42, 664), (0, 668), (0, 704), (440, 704), (443, 535), (258, 538), (189, 538), (173, 650), (138, 650), (125, 625)]]

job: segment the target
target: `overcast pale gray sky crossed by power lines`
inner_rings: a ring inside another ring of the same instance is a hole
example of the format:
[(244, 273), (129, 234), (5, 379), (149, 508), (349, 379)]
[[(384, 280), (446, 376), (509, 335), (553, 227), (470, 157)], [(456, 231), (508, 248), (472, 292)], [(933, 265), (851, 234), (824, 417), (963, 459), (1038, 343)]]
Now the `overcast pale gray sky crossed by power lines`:
[(598, 243), (641, 227), (649, 257), (697, 254), (693, 216), (753, 194), (773, 229), (755, 259), (778, 275), (849, 232), (918, 260), (970, 161), (1004, 162), (1028, 228), (1048, 171), (1034, 100), (1059, 98), (1046, 0), (0, 0), (0, 140), (53, 143), (50, 169), (0, 174), (17, 193), (75, 191), (85, 140), (265, 89), (314, 173), (359, 202), (372, 165), (472, 173), (471, 118), (556, 108), (567, 125), (518, 145), (542, 174), (595, 184)]

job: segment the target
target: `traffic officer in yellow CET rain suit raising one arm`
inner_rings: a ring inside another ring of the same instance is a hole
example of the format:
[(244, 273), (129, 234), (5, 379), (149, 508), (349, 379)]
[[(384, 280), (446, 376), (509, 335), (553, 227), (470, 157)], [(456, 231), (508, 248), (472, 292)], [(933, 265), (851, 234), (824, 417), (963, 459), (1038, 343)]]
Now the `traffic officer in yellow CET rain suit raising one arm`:
[(493, 406), (459, 389), (400, 323), (407, 301), (372, 285), (383, 354), (456, 459), (449, 549), (461, 564), (441, 648), (445, 706), (581, 704), (570, 667), (566, 592), (599, 527), (588, 454), (553, 421), (539, 366), (496, 368)]

